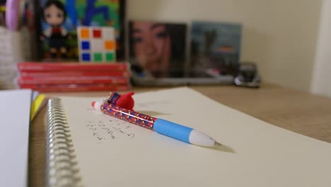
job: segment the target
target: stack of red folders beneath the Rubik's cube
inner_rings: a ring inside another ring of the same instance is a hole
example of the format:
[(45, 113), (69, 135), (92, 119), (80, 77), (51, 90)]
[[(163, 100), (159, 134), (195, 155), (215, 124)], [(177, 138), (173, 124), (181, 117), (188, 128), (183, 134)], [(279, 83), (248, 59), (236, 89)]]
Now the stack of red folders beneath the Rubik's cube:
[(129, 64), (82, 64), (77, 62), (18, 63), (21, 89), (49, 91), (122, 91), (130, 88)]

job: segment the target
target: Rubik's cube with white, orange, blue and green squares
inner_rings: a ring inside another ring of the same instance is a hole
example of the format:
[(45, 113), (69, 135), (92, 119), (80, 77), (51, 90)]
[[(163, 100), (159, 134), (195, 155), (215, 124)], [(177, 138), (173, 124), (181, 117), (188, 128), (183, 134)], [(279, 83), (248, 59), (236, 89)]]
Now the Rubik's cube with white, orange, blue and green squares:
[(112, 27), (78, 27), (81, 62), (115, 62), (115, 31)]

